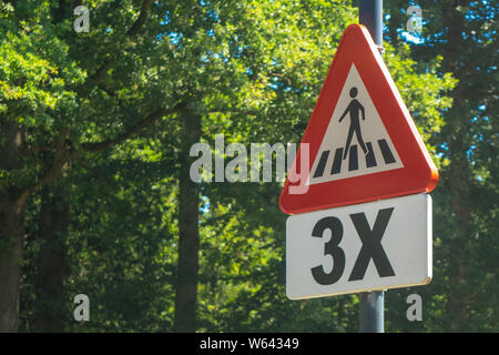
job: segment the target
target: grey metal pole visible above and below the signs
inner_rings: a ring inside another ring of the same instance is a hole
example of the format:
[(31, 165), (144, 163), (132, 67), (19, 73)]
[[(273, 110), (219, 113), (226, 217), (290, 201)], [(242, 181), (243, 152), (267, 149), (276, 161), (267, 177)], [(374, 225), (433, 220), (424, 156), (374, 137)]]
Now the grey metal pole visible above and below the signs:
[[(359, 0), (359, 23), (364, 24), (378, 48), (383, 48), (383, 0)], [(385, 293), (383, 291), (359, 294), (359, 332), (384, 333)]]

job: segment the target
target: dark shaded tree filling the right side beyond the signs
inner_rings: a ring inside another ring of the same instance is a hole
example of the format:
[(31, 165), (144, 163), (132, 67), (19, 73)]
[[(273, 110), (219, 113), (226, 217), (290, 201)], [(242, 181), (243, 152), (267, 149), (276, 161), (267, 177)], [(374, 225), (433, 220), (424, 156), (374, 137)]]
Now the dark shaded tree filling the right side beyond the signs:
[[(488, 1), (419, 1), (422, 32), (409, 42), (419, 65), (458, 80), (445, 126), (429, 142), (442, 164), (435, 191), (435, 281), (421, 292), (427, 331), (497, 331), (497, 9)], [(406, 3), (389, 1), (387, 38), (408, 42)]]

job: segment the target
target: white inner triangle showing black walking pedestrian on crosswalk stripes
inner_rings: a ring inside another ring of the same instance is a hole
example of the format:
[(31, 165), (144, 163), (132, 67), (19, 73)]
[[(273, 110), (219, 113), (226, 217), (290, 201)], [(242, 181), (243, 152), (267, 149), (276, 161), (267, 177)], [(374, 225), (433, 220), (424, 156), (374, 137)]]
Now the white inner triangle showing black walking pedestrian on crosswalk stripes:
[(309, 184), (404, 168), (354, 64), (312, 165)]

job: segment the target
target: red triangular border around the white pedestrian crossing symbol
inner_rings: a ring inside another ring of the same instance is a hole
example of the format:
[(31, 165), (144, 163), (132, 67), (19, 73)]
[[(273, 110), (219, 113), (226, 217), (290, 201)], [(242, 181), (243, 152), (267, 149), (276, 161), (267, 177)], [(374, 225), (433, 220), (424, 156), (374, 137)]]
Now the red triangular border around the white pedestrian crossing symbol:
[[(368, 30), (361, 24), (350, 24), (345, 30), (305, 130), (302, 143), (309, 144), (309, 170), (318, 153), (352, 63), (355, 63), (404, 168), (313, 184), (304, 194), (289, 194), (289, 185), (298, 185), (298, 182), (291, 183), (287, 179), (279, 199), (281, 210), (286, 214), (430, 192), (437, 185), (437, 168), (376, 44)], [(299, 156), (298, 150), (294, 162), (297, 166), (299, 166)]]

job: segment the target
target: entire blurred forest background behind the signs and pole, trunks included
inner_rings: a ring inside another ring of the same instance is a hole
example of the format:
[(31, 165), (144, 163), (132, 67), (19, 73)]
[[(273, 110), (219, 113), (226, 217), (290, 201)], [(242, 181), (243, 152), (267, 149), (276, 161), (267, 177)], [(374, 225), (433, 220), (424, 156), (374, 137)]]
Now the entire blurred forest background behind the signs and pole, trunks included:
[[(384, 1), (440, 172), (434, 280), (386, 293), (386, 332), (499, 331), (497, 12)], [(0, 1), (0, 331), (357, 332), (358, 295), (286, 298), (281, 182), (190, 179), (215, 134), (299, 143), (350, 23), (356, 1)]]

